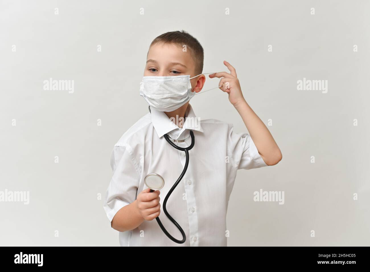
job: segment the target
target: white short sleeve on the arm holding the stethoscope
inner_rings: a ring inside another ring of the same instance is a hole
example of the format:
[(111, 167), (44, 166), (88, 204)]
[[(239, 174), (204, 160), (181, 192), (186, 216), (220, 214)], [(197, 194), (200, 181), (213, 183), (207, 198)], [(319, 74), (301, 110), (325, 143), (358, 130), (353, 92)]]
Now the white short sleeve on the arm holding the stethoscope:
[(136, 199), (139, 175), (129, 150), (129, 147), (115, 146), (111, 153), (113, 175), (103, 205), (110, 222), (118, 210)]

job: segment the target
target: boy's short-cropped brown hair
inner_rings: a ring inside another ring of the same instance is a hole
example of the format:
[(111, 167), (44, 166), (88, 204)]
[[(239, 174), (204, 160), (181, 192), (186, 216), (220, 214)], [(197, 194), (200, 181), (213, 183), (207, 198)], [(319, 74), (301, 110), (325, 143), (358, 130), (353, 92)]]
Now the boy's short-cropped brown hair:
[[(182, 31), (170, 31), (159, 35), (155, 38), (150, 46), (156, 43), (164, 44), (177, 44), (181, 47), (186, 46), (186, 52), (190, 52), (192, 58), (195, 62), (195, 73), (201, 74), (203, 72), (203, 61), (204, 61), (204, 51), (201, 43), (198, 42), (193, 36), (188, 32)], [(150, 48), (149, 46), (149, 48)]]

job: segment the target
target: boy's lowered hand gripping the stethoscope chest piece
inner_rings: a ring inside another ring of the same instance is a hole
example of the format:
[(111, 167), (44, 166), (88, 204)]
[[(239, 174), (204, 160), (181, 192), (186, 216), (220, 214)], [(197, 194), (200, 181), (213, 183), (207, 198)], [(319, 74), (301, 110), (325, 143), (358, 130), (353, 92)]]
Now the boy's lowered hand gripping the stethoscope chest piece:
[(150, 192), (150, 188), (147, 188), (138, 194), (137, 208), (145, 220), (151, 221), (161, 213), (160, 193), (159, 190)]

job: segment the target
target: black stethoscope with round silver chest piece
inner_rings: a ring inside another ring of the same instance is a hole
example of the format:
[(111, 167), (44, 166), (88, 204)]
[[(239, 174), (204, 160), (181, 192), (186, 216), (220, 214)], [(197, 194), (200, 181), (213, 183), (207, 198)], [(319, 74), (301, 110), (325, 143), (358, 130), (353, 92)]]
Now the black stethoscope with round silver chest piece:
[[(150, 112), (150, 107), (149, 107), (149, 112)], [(186, 235), (185, 235), (185, 232), (184, 230), (181, 228), (181, 226), (176, 222), (175, 219), (172, 218), (171, 215), (169, 215), (169, 213), (167, 212), (167, 209), (166, 209), (166, 203), (167, 203), (167, 200), (169, 198), (169, 196), (171, 195), (171, 193), (175, 190), (176, 186), (180, 183), (180, 180), (184, 177), (185, 173), (186, 173), (186, 170), (188, 169), (188, 165), (189, 165), (189, 150), (193, 148), (194, 146), (194, 132), (192, 130), (190, 130), (190, 136), (191, 136), (191, 145), (189, 145), (188, 147), (179, 147), (177, 145), (175, 145), (169, 138), (169, 136), (167, 134), (164, 135), (166, 141), (173, 147), (175, 147), (176, 149), (178, 150), (181, 150), (181, 151), (184, 151), (185, 152), (185, 155), (186, 155), (186, 161), (185, 161), (185, 166), (184, 166), (184, 170), (182, 170), (182, 173), (181, 175), (179, 176), (179, 178), (176, 180), (175, 184), (172, 186), (172, 188), (168, 191), (164, 201), (163, 201), (163, 211), (165, 213), (165, 215), (168, 217), (169, 220), (171, 220), (172, 223), (174, 223), (174, 225), (180, 230), (181, 234), (182, 234), (182, 240), (178, 240), (176, 238), (174, 238), (171, 234), (168, 233), (168, 231), (165, 229), (165, 227), (162, 225), (162, 222), (161, 220), (159, 219), (159, 216), (157, 218), (155, 218), (158, 222), (158, 225), (161, 227), (161, 229), (163, 230), (163, 232), (165, 233), (165, 235), (168, 236), (169, 239), (171, 239), (172, 241), (176, 242), (176, 243), (179, 243), (179, 244), (182, 244), (186, 241)], [(171, 138), (172, 139), (172, 138)], [(172, 139), (174, 142), (184, 142), (185, 140), (174, 140)], [(148, 186), (148, 188), (150, 188), (150, 192), (154, 192), (154, 190), (159, 190), (159, 189), (162, 189), (163, 186), (164, 186), (164, 179), (162, 178), (161, 175), (158, 175), (156, 173), (150, 173), (148, 174), (145, 179), (144, 179), (144, 183), (145, 185)]]

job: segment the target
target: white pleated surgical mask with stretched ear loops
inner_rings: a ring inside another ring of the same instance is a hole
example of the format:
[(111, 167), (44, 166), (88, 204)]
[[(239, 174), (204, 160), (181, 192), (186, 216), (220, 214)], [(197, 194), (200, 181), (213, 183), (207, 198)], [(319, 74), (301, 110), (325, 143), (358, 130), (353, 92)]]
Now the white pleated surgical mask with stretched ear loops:
[[(200, 75), (198, 74), (197, 76)], [(190, 80), (197, 76), (144, 76), (140, 83), (140, 95), (156, 110), (172, 112), (184, 105), (196, 94), (191, 91)], [(209, 90), (216, 88), (218, 87)], [(200, 93), (206, 91), (201, 91)]]

